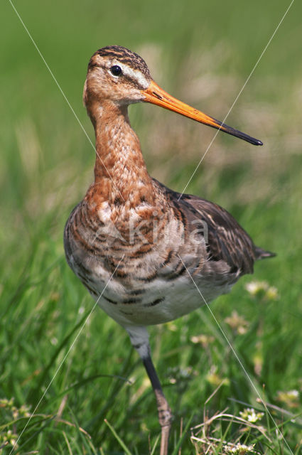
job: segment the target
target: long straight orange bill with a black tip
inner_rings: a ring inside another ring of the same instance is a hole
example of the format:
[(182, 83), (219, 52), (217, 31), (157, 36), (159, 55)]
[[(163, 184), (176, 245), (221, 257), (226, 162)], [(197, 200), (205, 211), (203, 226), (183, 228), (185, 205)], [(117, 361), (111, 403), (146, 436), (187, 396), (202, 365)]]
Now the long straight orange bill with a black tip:
[(151, 81), (149, 87), (146, 90), (142, 90), (143, 95), (145, 96), (144, 101), (151, 102), (153, 105), (164, 107), (165, 109), (170, 109), (171, 111), (178, 112), (178, 114), (189, 117), (189, 119), (196, 120), (196, 122), (204, 123), (210, 127), (221, 129), (221, 131), (232, 134), (232, 136), (239, 137), (244, 141), (250, 142), (254, 145), (263, 145), (259, 139), (254, 139), (247, 134), (238, 131), (232, 127), (228, 127), (226, 124), (220, 122), (219, 120), (210, 117), (209, 115), (204, 114), (203, 112), (194, 109), (186, 105), (184, 102), (177, 100), (177, 98), (171, 97), (167, 92), (165, 92), (159, 85), (156, 84), (153, 80)]

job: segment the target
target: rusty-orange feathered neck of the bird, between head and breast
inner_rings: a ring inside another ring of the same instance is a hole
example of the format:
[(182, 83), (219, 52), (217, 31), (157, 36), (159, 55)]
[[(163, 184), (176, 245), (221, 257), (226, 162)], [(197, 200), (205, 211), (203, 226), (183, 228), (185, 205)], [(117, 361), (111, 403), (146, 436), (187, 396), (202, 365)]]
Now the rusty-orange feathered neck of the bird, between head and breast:
[(95, 191), (109, 203), (150, 197), (151, 177), (131, 128), (127, 106), (104, 102), (90, 115), (95, 127)]

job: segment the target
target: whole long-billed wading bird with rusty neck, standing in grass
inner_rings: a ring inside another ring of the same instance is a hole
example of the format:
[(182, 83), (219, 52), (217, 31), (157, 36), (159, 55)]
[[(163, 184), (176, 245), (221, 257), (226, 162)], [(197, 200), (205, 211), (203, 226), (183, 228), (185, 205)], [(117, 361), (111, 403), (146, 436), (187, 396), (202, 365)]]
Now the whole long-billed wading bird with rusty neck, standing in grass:
[(177, 112), (262, 145), (172, 97), (143, 58), (120, 45), (88, 63), (83, 102), (95, 129), (95, 180), (65, 225), (65, 255), (100, 308), (129, 333), (156, 397), (160, 454), (168, 454), (173, 415), (151, 359), (150, 325), (166, 323), (229, 292), (254, 262), (274, 253), (254, 245), (227, 210), (152, 178), (128, 107)]

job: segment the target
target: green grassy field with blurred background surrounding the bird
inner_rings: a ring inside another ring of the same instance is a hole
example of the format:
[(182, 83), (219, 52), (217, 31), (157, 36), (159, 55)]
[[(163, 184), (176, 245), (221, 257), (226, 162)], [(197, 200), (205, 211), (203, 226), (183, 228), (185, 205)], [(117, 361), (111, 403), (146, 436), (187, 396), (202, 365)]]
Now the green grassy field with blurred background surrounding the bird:
[[(81, 94), (97, 48), (136, 50), (166, 90), (223, 119), (289, 1), (14, 5), (93, 140)], [(218, 134), (186, 188), (278, 256), (211, 305), (242, 365), (207, 308), (150, 329), (175, 415), (171, 454), (180, 442), (183, 455), (238, 442), (301, 453), (301, 14), (296, 0), (227, 119), (264, 147)], [(63, 254), (65, 220), (92, 180), (92, 146), (9, 1), (1, 16), (0, 453), (19, 437), (12, 453), (157, 453), (144, 368), (99, 309), (80, 331), (93, 302)], [(213, 130), (146, 105), (130, 116), (150, 173), (182, 191)], [(249, 407), (264, 415), (248, 422)]]

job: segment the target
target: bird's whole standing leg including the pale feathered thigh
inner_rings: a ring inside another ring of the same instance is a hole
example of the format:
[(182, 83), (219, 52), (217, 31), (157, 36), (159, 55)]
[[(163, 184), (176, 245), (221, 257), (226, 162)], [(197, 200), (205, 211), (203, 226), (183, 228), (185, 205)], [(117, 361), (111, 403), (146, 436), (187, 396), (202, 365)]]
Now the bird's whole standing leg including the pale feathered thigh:
[(153, 387), (156, 404), (158, 410), (158, 421), (161, 425), (161, 453), (160, 455), (168, 455), (168, 441), (172, 422), (172, 412), (168, 405), (161, 382), (158, 379), (156, 369), (154, 368), (151, 359), (151, 350), (149, 345), (149, 334), (146, 327), (126, 327), (126, 331), (130, 335), (131, 343), (138, 351), (141, 360), (143, 360), (146, 372)]

